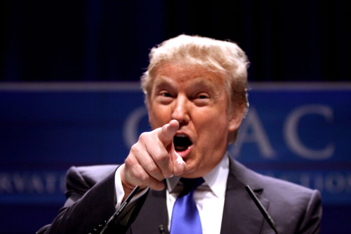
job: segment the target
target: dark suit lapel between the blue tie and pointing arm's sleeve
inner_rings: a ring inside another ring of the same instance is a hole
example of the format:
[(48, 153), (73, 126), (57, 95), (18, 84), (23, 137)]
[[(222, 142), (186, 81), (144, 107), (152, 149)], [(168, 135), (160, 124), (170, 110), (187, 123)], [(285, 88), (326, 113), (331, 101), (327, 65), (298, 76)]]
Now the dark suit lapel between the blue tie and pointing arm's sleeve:
[(132, 234), (159, 234), (159, 225), (167, 231), (168, 213), (166, 190), (150, 190), (137, 219), (131, 225)]

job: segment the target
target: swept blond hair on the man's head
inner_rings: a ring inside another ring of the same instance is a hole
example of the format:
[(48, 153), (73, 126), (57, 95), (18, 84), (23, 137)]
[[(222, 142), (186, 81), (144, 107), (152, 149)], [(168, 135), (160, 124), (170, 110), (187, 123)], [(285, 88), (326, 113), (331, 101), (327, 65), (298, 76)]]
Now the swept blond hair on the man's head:
[[(246, 112), (249, 106), (246, 86), (247, 68), (250, 62), (245, 52), (236, 43), (179, 35), (152, 48), (149, 58), (147, 71), (141, 76), (141, 87), (146, 96), (146, 102), (151, 95), (156, 68), (171, 62), (199, 65), (209, 71), (223, 74), (230, 106), (233, 108), (234, 104), (235, 110), (242, 109)], [(232, 108), (229, 110), (232, 111)], [(236, 137), (237, 131), (234, 131), (231, 133), (230, 142), (234, 143)]]

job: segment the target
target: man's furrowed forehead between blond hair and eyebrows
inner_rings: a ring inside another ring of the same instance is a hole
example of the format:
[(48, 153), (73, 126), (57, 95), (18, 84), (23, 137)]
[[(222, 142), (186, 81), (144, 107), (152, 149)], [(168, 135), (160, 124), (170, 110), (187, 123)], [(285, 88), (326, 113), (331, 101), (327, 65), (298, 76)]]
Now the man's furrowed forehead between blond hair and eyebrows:
[(206, 86), (213, 89), (223, 87), (223, 76), (199, 65), (166, 63), (156, 68), (154, 87), (162, 84), (186, 87)]

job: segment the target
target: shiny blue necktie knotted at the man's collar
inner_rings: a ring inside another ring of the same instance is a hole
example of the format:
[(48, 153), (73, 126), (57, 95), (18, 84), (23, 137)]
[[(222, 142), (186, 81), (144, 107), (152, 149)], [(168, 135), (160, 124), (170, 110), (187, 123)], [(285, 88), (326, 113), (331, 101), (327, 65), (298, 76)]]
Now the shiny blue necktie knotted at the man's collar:
[(172, 212), (170, 234), (202, 234), (201, 220), (194, 201), (194, 190), (204, 182), (203, 178), (180, 178), (184, 190), (178, 195)]

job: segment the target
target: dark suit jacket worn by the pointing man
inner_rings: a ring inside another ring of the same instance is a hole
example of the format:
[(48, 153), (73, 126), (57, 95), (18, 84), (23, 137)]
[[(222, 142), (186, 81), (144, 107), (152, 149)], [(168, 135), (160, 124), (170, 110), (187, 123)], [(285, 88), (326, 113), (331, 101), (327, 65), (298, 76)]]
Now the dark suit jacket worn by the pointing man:
[[(98, 233), (115, 211), (117, 166), (70, 168), (66, 203), (54, 222), (38, 233)], [(231, 158), (221, 234), (274, 233), (246, 192), (247, 184), (272, 216), (280, 234), (319, 233), (322, 209), (317, 190), (257, 174)], [(168, 233), (167, 223), (165, 190), (150, 190), (137, 202), (129, 224), (115, 223), (109, 231), (158, 234), (158, 226), (162, 224)]]

